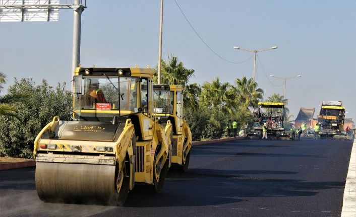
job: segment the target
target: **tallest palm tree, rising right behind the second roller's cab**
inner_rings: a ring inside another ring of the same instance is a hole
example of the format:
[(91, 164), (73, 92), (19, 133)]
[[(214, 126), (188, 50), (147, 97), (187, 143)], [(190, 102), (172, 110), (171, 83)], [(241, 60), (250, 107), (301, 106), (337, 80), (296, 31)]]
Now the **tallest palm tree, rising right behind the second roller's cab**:
[[(154, 81), (157, 83), (157, 70)], [(168, 56), (168, 62), (162, 59), (161, 84), (182, 85), (184, 94), (184, 107), (197, 108), (200, 86), (197, 83), (189, 84), (189, 79), (194, 75), (194, 69), (187, 69), (183, 62), (176, 56)]]

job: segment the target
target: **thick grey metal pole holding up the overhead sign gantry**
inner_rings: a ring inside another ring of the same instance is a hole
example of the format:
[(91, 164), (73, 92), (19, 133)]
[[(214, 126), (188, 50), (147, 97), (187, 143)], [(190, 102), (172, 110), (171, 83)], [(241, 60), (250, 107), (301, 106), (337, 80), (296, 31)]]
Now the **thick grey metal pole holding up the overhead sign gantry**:
[(82, 23), (82, 11), (80, 0), (74, 0), (73, 5), (79, 6), (78, 8), (73, 8), (73, 51), (72, 51), (72, 78), (74, 76), (75, 68), (78, 67), (80, 61), (80, 30)]

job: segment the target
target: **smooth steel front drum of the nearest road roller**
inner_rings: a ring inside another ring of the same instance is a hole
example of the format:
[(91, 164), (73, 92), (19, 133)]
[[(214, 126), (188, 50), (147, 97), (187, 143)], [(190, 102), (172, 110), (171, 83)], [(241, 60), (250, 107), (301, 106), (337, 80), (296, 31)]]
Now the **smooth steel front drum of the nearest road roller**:
[(37, 162), (36, 190), (42, 201), (111, 203), (115, 166)]

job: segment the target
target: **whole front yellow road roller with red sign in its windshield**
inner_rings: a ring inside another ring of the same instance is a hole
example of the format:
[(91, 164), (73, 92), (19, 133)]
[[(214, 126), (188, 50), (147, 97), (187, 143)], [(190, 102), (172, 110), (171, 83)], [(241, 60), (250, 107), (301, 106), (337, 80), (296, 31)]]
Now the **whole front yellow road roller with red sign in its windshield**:
[(73, 120), (54, 117), (34, 142), (42, 201), (123, 205), (137, 184), (162, 191), (170, 138), (152, 78), (149, 68), (76, 68)]

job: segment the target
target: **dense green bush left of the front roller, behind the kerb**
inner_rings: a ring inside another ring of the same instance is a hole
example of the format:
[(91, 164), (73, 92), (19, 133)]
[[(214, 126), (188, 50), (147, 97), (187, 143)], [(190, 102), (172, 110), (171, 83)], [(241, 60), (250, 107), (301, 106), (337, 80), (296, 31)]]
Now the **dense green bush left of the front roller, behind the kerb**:
[(32, 158), (33, 142), (39, 131), (60, 116), (67, 120), (71, 114), (72, 94), (64, 84), (50, 87), (46, 80), (35, 85), (32, 79), (21, 79), (9, 88), (10, 94), (27, 93), (23, 102), (14, 103), (22, 121), (13, 117), (0, 116), (0, 156)]

